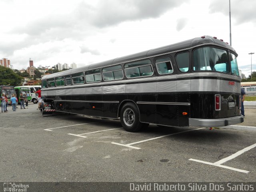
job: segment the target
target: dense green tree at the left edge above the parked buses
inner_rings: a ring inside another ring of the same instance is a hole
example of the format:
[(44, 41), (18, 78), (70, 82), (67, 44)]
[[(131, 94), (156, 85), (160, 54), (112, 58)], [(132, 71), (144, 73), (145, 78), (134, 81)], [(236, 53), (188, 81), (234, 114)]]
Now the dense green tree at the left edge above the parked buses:
[(0, 85), (20, 86), (23, 78), (10, 68), (0, 66)]

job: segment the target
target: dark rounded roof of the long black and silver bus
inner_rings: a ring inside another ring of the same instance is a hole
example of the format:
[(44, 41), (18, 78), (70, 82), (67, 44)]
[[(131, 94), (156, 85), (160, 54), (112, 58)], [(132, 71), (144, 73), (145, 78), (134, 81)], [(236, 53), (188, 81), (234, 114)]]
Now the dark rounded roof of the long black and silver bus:
[(123, 57), (115, 58), (115, 59), (104, 61), (104, 62), (90, 64), (90, 65), (83, 66), (83, 67), (76, 68), (76, 69), (70, 69), (70, 70), (66, 70), (66, 71), (46, 75), (46, 76), (42, 77), (42, 80), (48, 79), (48, 78), (59, 77), (59, 76), (70, 75), (70, 74), (74, 74), (76, 72), (92, 70), (92, 69), (96, 69), (96, 68), (100, 68), (100, 67), (104, 67), (104, 66), (122, 64), (124, 62), (132, 62), (134, 60), (149, 58), (149, 57), (152, 57), (152, 56), (158, 56), (158, 55), (167, 54), (167, 53), (170, 53), (170, 52), (187, 50), (187, 49), (190, 49), (192, 47), (196, 47), (196, 46), (200, 46), (200, 45), (204, 45), (204, 44), (210, 44), (210, 45), (213, 44), (213, 45), (218, 45), (218, 46), (225, 47), (225, 48), (231, 50), (232, 52), (234, 52), (234, 54), (236, 56), (238, 56), (238, 54), (236, 53), (234, 48), (232, 48), (227, 43), (225, 43), (225, 42), (223, 42), (219, 39), (215, 39), (211, 36), (202, 36), (202, 37), (196, 37), (194, 39), (186, 40), (186, 41), (183, 41), (183, 42), (178, 42), (176, 44), (171, 44), (171, 45), (163, 46), (163, 47), (160, 47), (160, 48), (150, 49), (150, 50), (147, 50), (147, 51), (139, 52), (139, 53), (136, 53), (136, 54), (131, 54), (131, 55), (128, 55), (128, 56), (123, 56)]

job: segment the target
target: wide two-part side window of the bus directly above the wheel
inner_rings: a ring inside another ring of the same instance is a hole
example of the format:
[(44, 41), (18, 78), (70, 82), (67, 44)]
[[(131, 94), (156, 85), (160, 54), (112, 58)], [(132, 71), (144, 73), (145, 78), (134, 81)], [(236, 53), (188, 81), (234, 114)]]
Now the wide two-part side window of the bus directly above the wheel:
[(149, 59), (126, 63), (124, 65), (124, 68), (125, 68), (124, 71), (127, 78), (153, 75), (153, 69), (152, 69), (151, 61)]

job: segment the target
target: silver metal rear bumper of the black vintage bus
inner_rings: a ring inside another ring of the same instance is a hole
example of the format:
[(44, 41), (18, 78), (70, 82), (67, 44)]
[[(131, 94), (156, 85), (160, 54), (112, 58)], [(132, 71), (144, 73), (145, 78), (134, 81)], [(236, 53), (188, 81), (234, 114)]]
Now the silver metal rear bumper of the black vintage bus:
[(193, 119), (189, 118), (189, 126), (195, 127), (223, 127), (244, 122), (244, 116), (228, 117), (222, 119)]

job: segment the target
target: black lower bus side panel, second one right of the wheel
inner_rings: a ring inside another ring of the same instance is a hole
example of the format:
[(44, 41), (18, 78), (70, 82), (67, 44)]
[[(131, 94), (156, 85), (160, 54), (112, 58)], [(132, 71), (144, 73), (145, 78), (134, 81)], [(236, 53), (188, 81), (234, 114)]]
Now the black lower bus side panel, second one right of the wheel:
[[(157, 102), (177, 102), (176, 93), (159, 94)], [(157, 104), (156, 124), (178, 126), (178, 105)]]

